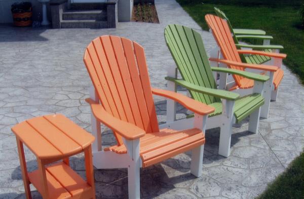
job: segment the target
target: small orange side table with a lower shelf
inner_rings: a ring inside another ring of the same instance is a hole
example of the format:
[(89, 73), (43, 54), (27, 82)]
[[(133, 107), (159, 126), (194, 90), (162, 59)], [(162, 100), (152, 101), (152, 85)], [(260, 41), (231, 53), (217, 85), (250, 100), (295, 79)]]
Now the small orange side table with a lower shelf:
[[(17, 138), (26, 198), (31, 198), (30, 183), (43, 198), (95, 198), (91, 152), (94, 136), (61, 114), (26, 120), (15, 125), (12, 131)], [(38, 169), (30, 173), (23, 144), (37, 158)], [(87, 181), (69, 167), (69, 157), (82, 152), (85, 153)]]

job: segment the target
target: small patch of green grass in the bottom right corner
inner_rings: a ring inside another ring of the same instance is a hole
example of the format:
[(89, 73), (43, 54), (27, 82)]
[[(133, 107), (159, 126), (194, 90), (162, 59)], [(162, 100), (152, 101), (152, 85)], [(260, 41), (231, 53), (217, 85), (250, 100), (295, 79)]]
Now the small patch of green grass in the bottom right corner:
[(257, 198), (304, 198), (304, 153), (294, 159)]

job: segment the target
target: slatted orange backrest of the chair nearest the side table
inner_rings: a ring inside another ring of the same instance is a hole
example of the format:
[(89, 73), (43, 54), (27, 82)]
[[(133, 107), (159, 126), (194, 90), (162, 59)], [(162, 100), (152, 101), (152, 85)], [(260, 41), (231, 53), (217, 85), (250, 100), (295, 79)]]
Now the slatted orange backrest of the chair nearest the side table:
[[(158, 132), (143, 48), (118, 36), (101, 36), (87, 47), (84, 62), (103, 108), (123, 121)], [(118, 144), (122, 137), (114, 132)]]

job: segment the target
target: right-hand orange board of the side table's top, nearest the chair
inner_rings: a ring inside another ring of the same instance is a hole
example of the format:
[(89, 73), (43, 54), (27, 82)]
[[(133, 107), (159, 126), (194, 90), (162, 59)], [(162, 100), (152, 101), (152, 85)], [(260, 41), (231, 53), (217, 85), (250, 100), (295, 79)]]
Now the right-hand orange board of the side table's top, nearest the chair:
[(64, 134), (78, 143), (84, 149), (94, 141), (94, 136), (61, 114), (44, 116), (49, 122)]

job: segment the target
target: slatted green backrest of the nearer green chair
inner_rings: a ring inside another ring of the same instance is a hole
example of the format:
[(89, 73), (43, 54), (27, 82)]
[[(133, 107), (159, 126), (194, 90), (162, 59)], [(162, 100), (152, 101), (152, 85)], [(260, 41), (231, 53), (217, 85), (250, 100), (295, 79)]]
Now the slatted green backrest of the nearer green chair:
[[(216, 88), (201, 35), (191, 28), (168, 25), (165, 39), (178, 70), (185, 81), (207, 88)], [(219, 102), (220, 99), (189, 91), (195, 100), (205, 104)]]

